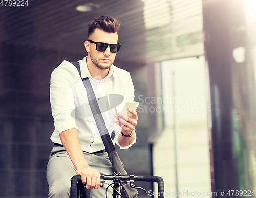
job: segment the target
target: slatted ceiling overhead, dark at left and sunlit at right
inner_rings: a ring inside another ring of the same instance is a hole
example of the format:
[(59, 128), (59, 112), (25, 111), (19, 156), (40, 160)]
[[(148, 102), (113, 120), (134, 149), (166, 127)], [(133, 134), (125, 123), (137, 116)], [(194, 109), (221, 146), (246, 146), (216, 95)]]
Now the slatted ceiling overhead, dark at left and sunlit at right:
[[(200, 0), (98, 0), (93, 1), (98, 10), (82, 13), (75, 9), (88, 2), (30, 0), (28, 6), (2, 6), (0, 42), (81, 54), (88, 22), (108, 15), (122, 23), (117, 60), (142, 65), (203, 54)], [(146, 27), (145, 21), (152, 19), (158, 25)]]

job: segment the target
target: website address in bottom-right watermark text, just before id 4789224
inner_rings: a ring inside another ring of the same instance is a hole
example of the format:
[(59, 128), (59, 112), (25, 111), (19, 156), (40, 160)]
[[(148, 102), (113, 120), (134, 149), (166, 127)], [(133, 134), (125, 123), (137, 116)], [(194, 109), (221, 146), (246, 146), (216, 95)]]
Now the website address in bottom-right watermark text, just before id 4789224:
[(217, 192), (198, 192), (189, 190), (179, 190), (179, 192), (174, 192), (165, 190), (164, 192), (160, 193), (150, 190), (148, 191), (148, 196), (217, 196)]

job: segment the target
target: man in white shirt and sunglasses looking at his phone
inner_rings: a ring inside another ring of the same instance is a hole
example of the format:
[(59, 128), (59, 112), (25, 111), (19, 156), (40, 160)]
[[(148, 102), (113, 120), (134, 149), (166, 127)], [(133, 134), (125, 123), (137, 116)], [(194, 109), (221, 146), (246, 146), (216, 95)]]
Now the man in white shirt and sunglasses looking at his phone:
[[(117, 19), (107, 16), (95, 18), (88, 24), (88, 40), (84, 42), (88, 56), (79, 61), (80, 71), (82, 78), (89, 77), (98, 100), (109, 94), (122, 95), (124, 101), (134, 99), (130, 74), (113, 65), (120, 48), (119, 26)], [(63, 61), (52, 72), (50, 102), (55, 130), (47, 165), (49, 197), (69, 197), (74, 175), (81, 175), (88, 197), (104, 197), (105, 189), (99, 189), (100, 174), (112, 175), (112, 165), (90, 109), (84, 108), (78, 116), (78, 107), (88, 104), (87, 94), (77, 69), (68, 61)], [(138, 116), (136, 111), (129, 111), (132, 117), (120, 112), (116, 115), (114, 109), (101, 111), (109, 133), (115, 131), (114, 142), (121, 149), (136, 142), (134, 127)]]

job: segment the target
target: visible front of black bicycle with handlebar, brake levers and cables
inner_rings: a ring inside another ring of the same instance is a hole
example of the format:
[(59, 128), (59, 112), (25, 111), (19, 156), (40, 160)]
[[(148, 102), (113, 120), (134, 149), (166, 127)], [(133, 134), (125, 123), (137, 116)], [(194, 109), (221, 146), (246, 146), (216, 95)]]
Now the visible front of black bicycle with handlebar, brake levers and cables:
[[(108, 184), (106, 181), (113, 181), (112, 184)], [(134, 181), (144, 181), (144, 182), (156, 182), (158, 184), (158, 197), (164, 197), (164, 182), (163, 179), (159, 176), (139, 176), (139, 175), (121, 175), (116, 174), (114, 172), (113, 175), (100, 175), (100, 187), (103, 187), (104, 184), (108, 184), (109, 186), (106, 188), (106, 198), (108, 188), (111, 186), (113, 188), (113, 198), (121, 198), (121, 183), (130, 183), (132, 188), (143, 190), (145, 193), (147, 191), (141, 187), (135, 186)], [(83, 194), (84, 184), (81, 182), (81, 176), (76, 175), (72, 177), (71, 180), (71, 188), (70, 188), (70, 198), (83, 198), (85, 195)]]

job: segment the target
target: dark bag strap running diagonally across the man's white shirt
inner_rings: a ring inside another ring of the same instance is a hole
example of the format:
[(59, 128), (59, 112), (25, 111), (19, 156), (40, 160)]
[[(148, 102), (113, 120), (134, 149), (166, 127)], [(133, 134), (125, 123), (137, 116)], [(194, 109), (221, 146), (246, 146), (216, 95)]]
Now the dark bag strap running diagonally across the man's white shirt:
[[(79, 75), (81, 77), (79, 62), (72, 62), (72, 64), (76, 66), (76, 68), (79, 72)], [(94, 117), (94, 120), (96, 122), (97, 128), (99, 130), (99, 134), (100, 134), (101, 139), (104, 143), (106, 152), (108, 152), (108, 154), (110, 154), (111, 152), (115, 151), (115, 147), (114, 147), (113, 142), (110, 138), (108, 128), (106, 128), (105, 121), (104, 121), (104, 119), (102, 117), (102, 114), (101, 114), (101, 111), (99, 109), (99, 105), (98, 105), (97, 99), (95, 97), (95, 94), (93, 92), (92, 85), (91, 85), (90, 80), (89, 80), (88, 77), (83, 78), (82, 82), (83, 82), (84, 87), (86, 87), (88, 101), (89, 101), (90, 108), (92, 110), (93, 117)]]

